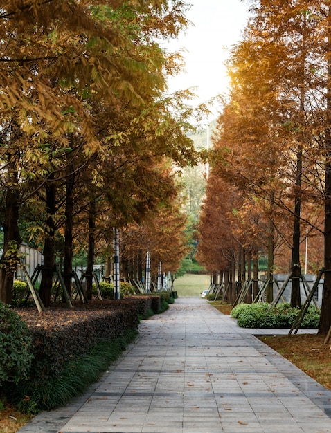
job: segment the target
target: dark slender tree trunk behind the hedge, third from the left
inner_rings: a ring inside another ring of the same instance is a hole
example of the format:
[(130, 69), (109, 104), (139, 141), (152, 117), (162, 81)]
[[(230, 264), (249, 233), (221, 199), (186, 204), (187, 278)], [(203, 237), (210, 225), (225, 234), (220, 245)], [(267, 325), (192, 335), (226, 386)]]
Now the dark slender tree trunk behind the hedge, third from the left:
[(65, 208), (65, 227), (64, 227), (64, 262), (63, 278), (66, 291), (71, 296), (71, 282), (73, 275), (73, 165), (69, 165), (69, 176), (66, 181), (66, 208)]

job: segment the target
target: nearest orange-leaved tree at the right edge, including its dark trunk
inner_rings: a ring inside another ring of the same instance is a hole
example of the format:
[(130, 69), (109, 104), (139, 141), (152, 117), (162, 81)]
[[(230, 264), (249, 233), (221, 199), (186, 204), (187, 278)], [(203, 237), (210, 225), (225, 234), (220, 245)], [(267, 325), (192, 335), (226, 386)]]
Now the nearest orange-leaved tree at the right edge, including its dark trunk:
[[(277, 26), (281, 28), (281, 32), (278, 32), (280, 39), (274, 44), (274, 52), (278, 58), (275, 75), (277, 73), (278, 81), (283, 83), (284, 93), (286, 91), (287, 95), (293, 95), (292, 98), (296, 100), (296, 107), (298, 107), (298, 115), (289, 116), (288, 119), (292, 132), (296, 130), (298, 136), (297, 162), (300, 164), (302, 149), (303, 158), (305, 158), (303, 161), (309, 160), (310, 168), (312, 168), (309, 176), (310, 187), (316, 186), (314, 195), (321, 197), (325, 205), (325, 269), (328, 269), (330, 267), (328, 248), (330, 245), (328, 228), (330, 218), (328, 210), (330, 4), (328, 1), (314, 0), (298, 0), (286, 5), (280, 2), (255, 1), (253, 9), (260, 17), (262, 26), (263, 24), (267, 26), (267, 22), (271, 22), (274, 28)], [(280, 33), (283, 33), (283, 36)], [(325, 43), (321, 44), (321, 41)], [(269, 50), (268, 47), (267, 50)], [(280, 56), (281, 52), (285, 55)], [(268, 58), (270, 59), (270, 56)], [(302, 148), (301, 145), (303, 145)], [(303, 192), (306, 192), (306, 187), (298, 185), (298, 175), (302, 175), (302, 180), (304, 180), (307, 172), (304, 169), (301, 171), (298, 164), (296, 167), (298, 168), (296, 191), (302, 197)], [(322, 173), (324, 178), (321, 176)], [(296, 204), (298, 205), (298, 196)], [(294, 210), (295, 213), (298, 214), (298, 211)], [(326, 333), (331, 325), (330, 286), (330, 276), (328, 272), (325, 272), (320, 333)]]

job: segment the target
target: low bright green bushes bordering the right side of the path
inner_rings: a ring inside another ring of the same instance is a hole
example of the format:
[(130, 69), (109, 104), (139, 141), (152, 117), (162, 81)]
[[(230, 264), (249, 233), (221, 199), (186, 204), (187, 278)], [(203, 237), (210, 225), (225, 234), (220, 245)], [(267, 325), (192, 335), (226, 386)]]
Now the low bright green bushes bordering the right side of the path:
[[(300, 312), (300, 308), (292, 308), (290, 304), (277, 304), (268, 312), (270, 304), (240, 304), (231, 311), (242, 328), (291, 328)], [(317, 329), (319, 327), (319, 309), (309, 306), (301, 328)]]

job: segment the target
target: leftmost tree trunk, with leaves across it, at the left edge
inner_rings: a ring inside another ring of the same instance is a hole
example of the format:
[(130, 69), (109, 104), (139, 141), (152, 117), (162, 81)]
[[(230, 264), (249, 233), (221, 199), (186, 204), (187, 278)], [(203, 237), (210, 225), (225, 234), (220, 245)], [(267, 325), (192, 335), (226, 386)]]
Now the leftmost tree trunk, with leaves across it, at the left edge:
[[(6, 194), (6, 210), (3, 223), (3, 252), (0, 267), (0, 300), (12, 303), (12, 285), (17, 268), (17, 260), (21, 237), (19, 234), (19, 188), (15, 166), (8, 163), (8, 182)], [(8, 257), (9, 256), (9, 257)]]

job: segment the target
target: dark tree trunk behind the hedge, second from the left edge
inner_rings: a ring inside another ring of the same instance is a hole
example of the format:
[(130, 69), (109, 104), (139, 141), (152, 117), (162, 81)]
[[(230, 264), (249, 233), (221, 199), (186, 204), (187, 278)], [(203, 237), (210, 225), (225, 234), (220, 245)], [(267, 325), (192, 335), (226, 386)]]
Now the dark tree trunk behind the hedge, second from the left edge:
[(42, 281), (40, 282), (40, 297), (47, 308), (51, 302), (53, 272), (55, 266), (55, 185), (50, 183), (46, 186), (46, 230), (44, 241), (44, 266), (42, 266)]

